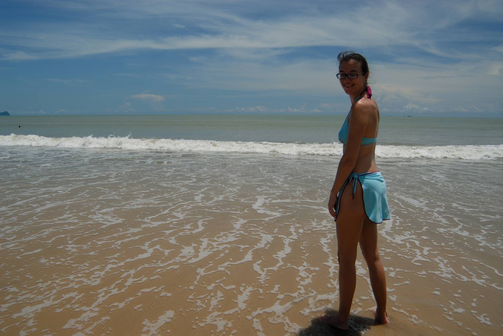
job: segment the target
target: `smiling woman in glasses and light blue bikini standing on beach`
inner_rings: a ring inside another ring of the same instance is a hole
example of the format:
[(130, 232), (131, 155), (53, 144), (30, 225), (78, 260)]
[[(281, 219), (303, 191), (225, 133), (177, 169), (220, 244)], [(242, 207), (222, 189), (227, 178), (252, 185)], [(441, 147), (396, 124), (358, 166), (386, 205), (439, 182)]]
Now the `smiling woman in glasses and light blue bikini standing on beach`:
[(339, 54), (337, 78), (350, 96), (351, 109), (339, 132), (343, 156), (328, 201), (328, 211), (336, 218), (339, 260), (339, 312), (323, 320), (348, 329), (348, 319), (356, 286), (358, 243), (367, 262), (377, 309), (376, 321), (386, 324), (386, 277), (377, 247), (377, 224), (389, 219), (386, 183), (375, 163), (375, 143), (379, 128), (379, 108), (367, 85), (367, 60), (353, 51)]

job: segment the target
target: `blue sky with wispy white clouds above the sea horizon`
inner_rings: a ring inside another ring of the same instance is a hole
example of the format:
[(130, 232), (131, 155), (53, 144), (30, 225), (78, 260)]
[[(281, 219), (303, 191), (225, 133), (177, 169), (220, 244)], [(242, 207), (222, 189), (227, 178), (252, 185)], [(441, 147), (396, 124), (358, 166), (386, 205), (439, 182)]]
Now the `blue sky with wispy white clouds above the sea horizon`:
[(503, 117), (501, 1), (0, 2), (0, 111), (346, 114), (337, 54), (381, 115)]

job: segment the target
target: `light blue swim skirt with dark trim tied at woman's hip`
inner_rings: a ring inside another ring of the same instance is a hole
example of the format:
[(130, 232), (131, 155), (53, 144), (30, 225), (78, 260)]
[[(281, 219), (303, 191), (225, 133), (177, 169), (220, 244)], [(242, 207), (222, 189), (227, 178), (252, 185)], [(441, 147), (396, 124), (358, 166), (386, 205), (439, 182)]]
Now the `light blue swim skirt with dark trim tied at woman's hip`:
[(388, 198), (386, 196), (386, 182), (384, 182), (384, 177), (382, 177), (380, 171), (361, 174), (355, 172), (351, 173), (339, 191), (336, 204), (336, 216), (339, 214), (341, 196), (344, 188), (346, 188), (349, 183), (353, 182), (353, 198), (355, 198), (357, 181), (360, 181), (362, 185), (363, 204), (367, 217), (377, 224), (381, 223), (383, 220), (390, 219)]

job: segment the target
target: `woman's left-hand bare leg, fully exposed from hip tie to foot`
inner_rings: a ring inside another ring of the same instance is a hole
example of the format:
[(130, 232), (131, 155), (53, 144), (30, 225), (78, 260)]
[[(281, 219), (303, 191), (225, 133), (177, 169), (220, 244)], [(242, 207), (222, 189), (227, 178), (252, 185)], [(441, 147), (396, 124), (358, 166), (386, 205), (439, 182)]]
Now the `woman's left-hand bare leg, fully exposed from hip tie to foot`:
[(348, 328), (349, 314), (356, 286), (356, 254), (360, 240), (365, 208), (360, 183), (353, 198), (350, 183), (341, 195), (341, 207), (337, 217), (337, 257), (339, 260), (339, 313), (330, 321), (342, 329)]

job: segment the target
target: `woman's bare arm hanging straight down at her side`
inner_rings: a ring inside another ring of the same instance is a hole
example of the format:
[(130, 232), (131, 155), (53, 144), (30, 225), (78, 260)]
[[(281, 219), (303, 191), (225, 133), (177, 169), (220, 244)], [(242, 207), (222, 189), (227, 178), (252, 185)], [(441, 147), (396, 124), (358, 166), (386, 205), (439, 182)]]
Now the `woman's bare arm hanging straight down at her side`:
[(333, 181), (332, 190), (330, 191), (330, 199), (328, 201), (328, 210), (334, 218), (336, 217), (336, 213), (333, 210), (333, 207), (337, 202), (337, 193), (341, 190), (349, 174), (351, 174), (355, 168), (362, 139), (365, 135), (367, 125), (369, 125), (371, 121), (373, 113), (375, 113), (375, 105), (367, 103), (366, 101), (359, 101), (355, 106), (353, 106), (351, 111), (346, 149), (343, 153), (341, 161), (339, 161), (336, 179)]

